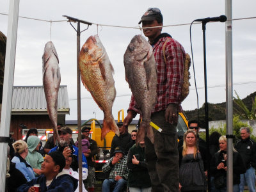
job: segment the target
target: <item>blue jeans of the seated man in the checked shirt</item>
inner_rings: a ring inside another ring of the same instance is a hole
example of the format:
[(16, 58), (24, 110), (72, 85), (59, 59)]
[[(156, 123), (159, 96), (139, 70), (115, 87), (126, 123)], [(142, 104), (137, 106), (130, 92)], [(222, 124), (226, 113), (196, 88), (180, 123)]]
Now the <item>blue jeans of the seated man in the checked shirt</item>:
[(127, 180), (120, 179), (118, 181), (114, 179), (105, 179), (102, 184), (102, 192), (110, 192), (111, 187), (114, 188), (113, 192), (119, 192), (121, 191), (124, 186), (127, 184)]

